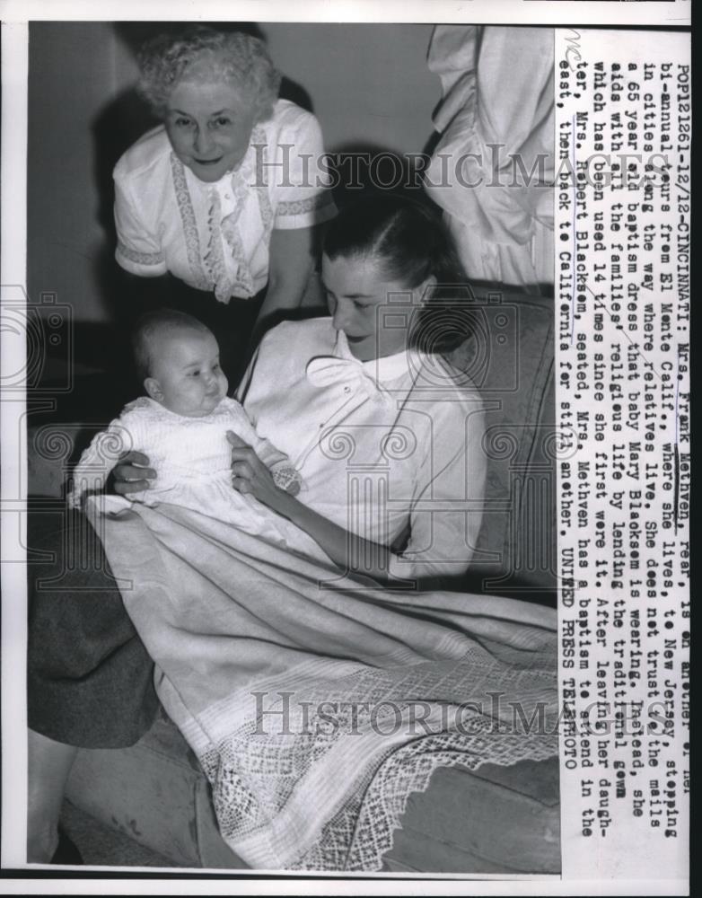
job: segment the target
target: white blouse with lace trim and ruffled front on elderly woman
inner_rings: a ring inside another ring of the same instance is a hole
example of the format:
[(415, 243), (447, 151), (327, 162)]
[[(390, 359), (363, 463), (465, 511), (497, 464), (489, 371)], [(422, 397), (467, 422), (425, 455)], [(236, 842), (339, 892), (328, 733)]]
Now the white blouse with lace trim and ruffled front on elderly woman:
[(268, 283), (272, 230), (336, 214), (323, 152), (317, 119), (279, 100), (241, 164), (206, 183), (172, 152), (163, 126), (154, 128), (115, 166), (119, 265), (142, 277), (170, 271), (221, 303), (256, 295)]

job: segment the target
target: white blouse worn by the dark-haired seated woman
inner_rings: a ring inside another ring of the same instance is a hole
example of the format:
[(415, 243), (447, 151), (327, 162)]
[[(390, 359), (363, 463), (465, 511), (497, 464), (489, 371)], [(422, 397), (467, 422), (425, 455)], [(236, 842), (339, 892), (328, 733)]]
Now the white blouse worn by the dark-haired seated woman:
[[(251, 376), (252, 374), (252, 376)], [(482, 518), (481, 398), (439, 357), (359, 362), (329, 318), (286, 321), (261, 341), (240, 399), (259, 436), (303, 479), (301, 501), (393, 555), (390, 575), (468, 568)]]

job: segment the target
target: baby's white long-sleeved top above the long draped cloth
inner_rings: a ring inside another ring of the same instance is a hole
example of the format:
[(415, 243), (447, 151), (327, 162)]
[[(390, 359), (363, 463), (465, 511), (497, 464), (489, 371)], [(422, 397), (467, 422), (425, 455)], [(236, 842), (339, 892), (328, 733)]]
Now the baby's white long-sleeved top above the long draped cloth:
[(125, 498), (110, 497), (112, 510), (132, 502), (148, 506), (167, 502), (287, 545), (281, 542), (283, 534), (276, 525), (276, 519), (285, 524), (283, 519), (258, 499), (233, 488), (228, 430), (253, 448), (279, 486), (299, 488), (299, 476), (287, 456), (258, 436), (239, 402), (226, 397), (209, 415), (189, 418), (143, 396), (130, 402), (83, 452), (74, 471), (69, 504), (80, 507), (86, 493), (101, 491), (121, 455), (136, 451), (148, 456), (156, 479), (149, 489)]

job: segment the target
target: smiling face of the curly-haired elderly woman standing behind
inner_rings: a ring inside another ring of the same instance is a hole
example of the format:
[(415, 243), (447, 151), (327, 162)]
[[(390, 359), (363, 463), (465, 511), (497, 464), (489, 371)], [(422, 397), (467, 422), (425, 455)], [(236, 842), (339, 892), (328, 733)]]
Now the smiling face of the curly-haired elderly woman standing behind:
[(232, 84), (195, 80), (180, 82), (171, 92), (165, 126), (180, 162), (211, 183), (241, 163), (254, 119)]

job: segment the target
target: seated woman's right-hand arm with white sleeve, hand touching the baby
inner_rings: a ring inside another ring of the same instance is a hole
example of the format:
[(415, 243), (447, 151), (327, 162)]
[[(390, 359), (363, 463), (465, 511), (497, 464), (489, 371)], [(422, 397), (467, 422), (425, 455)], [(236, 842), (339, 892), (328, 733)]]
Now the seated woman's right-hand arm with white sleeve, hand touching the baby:
[(482, 400), (468, 386), (434, 391), (432, 398), (430, 408), (421, 401), (415, 409), (408, 400), (406, 409), (420, 448), (407, 508), (408, 540), (401, 546), (366, 541), (302, 502), (280, 496), (255, 453), (235, 437), (234, 486), (299, 526), (345, 570), (408, 586), (450, 585), (469, 567), (478, 542), (485, 504), (486, 422)]

